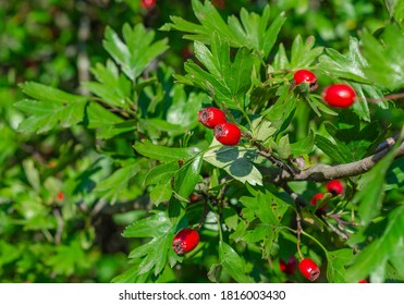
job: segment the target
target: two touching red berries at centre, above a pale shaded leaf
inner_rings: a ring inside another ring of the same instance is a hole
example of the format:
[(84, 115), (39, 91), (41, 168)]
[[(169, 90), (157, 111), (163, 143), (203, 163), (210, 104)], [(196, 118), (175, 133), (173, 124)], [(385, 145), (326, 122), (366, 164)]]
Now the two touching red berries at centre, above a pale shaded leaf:
[(198, 121), (208, 129), (215, 129), (215, 137), (223, 145), (237, 145), (242, 132), (238, 126), (229, 123), (219, 108), (208, 107), (198, 111)]

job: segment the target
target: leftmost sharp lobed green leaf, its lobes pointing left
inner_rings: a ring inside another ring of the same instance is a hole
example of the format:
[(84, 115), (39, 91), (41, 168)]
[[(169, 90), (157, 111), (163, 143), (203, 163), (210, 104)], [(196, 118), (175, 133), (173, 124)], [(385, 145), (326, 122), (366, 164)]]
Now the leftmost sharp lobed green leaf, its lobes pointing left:
[(56, 127), (70, 127), (83, 121), (86, 97), (37, 84), (24, 83), (22, 90), (35, 99), (23, 99), (14, 106), (29, 117), (19, 125), (21, 132), (45, 133)]

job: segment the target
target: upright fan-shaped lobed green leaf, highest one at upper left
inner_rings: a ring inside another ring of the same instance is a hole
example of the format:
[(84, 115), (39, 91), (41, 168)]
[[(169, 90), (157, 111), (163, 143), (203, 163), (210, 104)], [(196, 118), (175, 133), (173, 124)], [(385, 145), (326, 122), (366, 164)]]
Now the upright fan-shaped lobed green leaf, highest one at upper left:
[(107, 27), (103, 47), (126, 76), (135, 82), (146, 66), (168, 49), (168, 39), (152, 42), (155, 32), (147, 30), (142, 23), (133, 28), (124, 24), (122, 34), (123, 41), (112, 28)]

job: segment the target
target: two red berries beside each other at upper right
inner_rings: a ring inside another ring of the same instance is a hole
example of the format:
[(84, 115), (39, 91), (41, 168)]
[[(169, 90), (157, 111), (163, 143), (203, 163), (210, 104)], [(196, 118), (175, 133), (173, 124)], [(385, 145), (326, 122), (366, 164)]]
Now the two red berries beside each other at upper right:
[[(298, 70), (293, 75), (294, 84), (307, 83), (310, 90), (317, 88), (317, 77), (308, 70)], [(322, 99), (331, 107), (347, 108), (356, 100), (355, 90), (346, 84), (334, 84), (322, 91)]]

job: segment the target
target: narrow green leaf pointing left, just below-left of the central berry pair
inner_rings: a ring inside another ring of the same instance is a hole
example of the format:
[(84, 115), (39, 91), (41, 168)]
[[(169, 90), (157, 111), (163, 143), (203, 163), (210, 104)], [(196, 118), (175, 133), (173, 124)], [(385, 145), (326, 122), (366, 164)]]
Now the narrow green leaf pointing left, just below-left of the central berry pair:
[(149, 141), (137, 142), (133, 146), (135, 150), (150, 159), (170, 162), (177, 160), (185, 160), (198, 152), (197, 148), (173, 148), (160, 145), (155, 145)]

